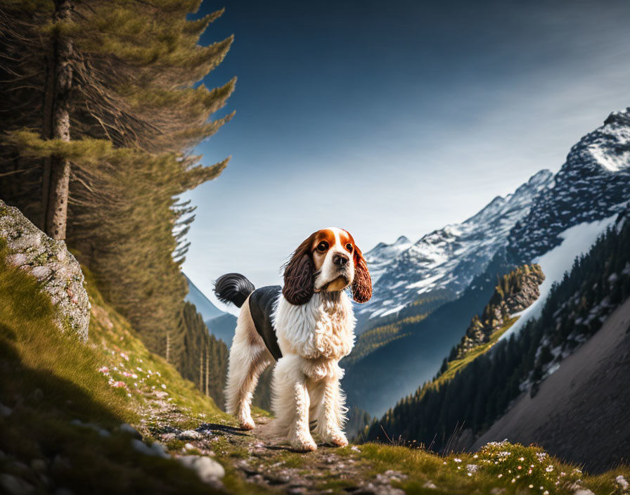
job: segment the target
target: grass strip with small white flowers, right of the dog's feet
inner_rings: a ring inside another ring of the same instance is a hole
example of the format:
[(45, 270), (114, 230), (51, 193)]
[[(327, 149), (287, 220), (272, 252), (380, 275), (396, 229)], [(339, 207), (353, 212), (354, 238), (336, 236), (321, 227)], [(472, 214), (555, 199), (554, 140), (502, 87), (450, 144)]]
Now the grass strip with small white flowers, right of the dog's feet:
[(402, 473), (404, 479), (393, 485), (407, 494), (574, 494), (580, 486), (595, 494), (622, 495), (628, 491), (616, 478), (630, 480), (627, 467), (589, 476), (539, 447), (508, 442), (492, 442), (476, 454), (449, 456), (374, 443), (360, 449), (360, 458), (371, 462), (374, 473)]

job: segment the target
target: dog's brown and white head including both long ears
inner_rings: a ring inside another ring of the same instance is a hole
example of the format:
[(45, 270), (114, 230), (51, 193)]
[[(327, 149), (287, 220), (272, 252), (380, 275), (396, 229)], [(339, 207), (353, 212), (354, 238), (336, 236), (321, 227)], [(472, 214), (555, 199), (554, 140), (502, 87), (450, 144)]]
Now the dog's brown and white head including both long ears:
[(291, 304), (306, 304), (314, 293), (352, 287), (356, 302), (372, 297), (372, 279), (349, 232), (330, 227), (311, 233), (293, 252), (284, 271), (282, 293)]

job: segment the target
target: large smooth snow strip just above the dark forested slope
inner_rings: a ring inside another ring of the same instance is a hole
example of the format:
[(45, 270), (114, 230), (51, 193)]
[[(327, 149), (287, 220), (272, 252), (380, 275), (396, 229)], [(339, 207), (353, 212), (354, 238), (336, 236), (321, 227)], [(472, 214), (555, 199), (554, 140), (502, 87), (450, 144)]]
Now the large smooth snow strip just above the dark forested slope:
[(558, 234), (558, 237), (563, 239), (560, 245), (532, 260), (532, 263), (537, 263), (541, 266), (545, 274), (545, 281), (539, 287), (540, 296), (527, 309), (513, 315), (520, 316), (520, 318), (506, 333), (501, 335), (500, 339), (509, 338), (510, 335), (517, 334), (527, 321), (540, 315), (545, 300), (551, 291), (551, 286), (560, 282), (565, 273), (571, 270), (576, 257), (586, 255), (589, 252), (593, 243), (615, 222), (615, 219), (617, 219), (617, 214), (602, 220), (574, 225)]

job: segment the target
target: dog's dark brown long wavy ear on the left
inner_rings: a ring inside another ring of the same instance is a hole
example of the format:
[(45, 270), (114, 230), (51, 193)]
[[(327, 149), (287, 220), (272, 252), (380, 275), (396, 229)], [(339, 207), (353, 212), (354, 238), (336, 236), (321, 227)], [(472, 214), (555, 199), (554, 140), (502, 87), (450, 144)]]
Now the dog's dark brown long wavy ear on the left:
[(291, 304), (306, 304), (313, 297), (315, 285), (315, 265), (311, 252), (314, 234), (300, 244), (289, 260), (284, 271), (282, 293)]

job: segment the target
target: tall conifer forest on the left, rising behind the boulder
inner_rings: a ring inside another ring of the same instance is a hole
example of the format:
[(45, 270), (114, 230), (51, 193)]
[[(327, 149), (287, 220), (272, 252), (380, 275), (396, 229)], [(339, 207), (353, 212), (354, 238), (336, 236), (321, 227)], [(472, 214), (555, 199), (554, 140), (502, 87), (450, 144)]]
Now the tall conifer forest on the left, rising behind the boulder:
[(233, 41), (198, 44), (222, 13), (186, 20), (199, 6), (3, 1), (0, 197), (66, 240), (147, 347), (217, 399), (226, 349), (184, 304), (195, 207), (179, 198), (226, 167), (191, 150), (231, 119), (212, 114), (236, 79), (198, 84)]

